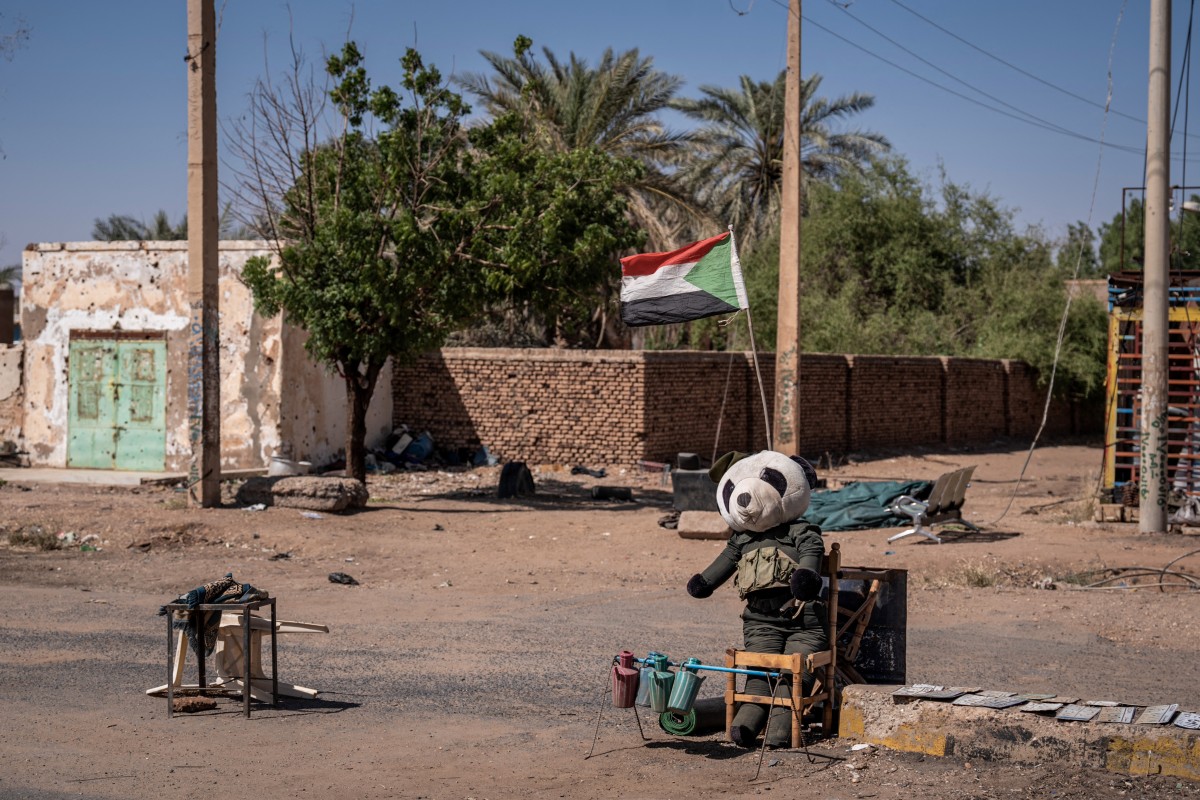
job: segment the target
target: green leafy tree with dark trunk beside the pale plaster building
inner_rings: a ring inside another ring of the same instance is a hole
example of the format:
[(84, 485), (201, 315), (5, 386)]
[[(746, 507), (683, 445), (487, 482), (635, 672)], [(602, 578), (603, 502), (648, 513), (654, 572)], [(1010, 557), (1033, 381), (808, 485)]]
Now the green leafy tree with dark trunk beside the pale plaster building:
[(318, 95), (299, 83), (299, 94), (256, 103), (269, 114), (258, 122), (295, 125), (304, 148), (262, 152), (240, 140), (257, 152), (242, 194), (257, 194), (254, 216), (278, 247), (242, 277), (259, 311), (304, 327), (308, 353), (343, 378), (347, 471), (360, 480), (386, 359), (440, 345), (500, 299), (562, 313), (572, 289), (636, 241), (613, 186), (637, 169), (596, 149), (546, 152), (516, 115), (468, 134), (468, 107), (415, 50), (397, 89), (372, 88), (362, 62), (353, 42), (329, 59), (329, 128), (313, 114)]

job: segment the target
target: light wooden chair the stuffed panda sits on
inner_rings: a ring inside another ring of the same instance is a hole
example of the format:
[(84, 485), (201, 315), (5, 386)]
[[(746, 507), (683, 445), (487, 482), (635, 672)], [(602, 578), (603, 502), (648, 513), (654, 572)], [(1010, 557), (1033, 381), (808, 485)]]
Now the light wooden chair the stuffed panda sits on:
[[(829, 581), (829, 596), (827, 600), (828, 615), (826, 625), (829, 634), (830, 648), (809, 655), (792, 654), (778, 655), (768, 652), (750, 652), (730, 648), (725, 651), (725, 666), (731, 669), (769, 669), (787, 670), (792, 674), (792, 691), (790, 697), (763, 697), (761, 694), (746, 694), (737, 691), (737, 674), (728, 673), (725, 687), (725, 730), (728, 733), (733, 728), (733, 714), (739, 703), (758, 703), (762, 705), (787, 709), (792, 715), (792, 747), (799, 747), (802, 742), (800, 723), (806, 710), (817, 703), (823, 703), (822, 730), (826, 735), (833, 730), (833, 708), (836, 703), (835, 675), (838, 669), (838, 649), (833, 643), (838, 640), (838, 577), (841, 567), (841, 549), (836, 542), (829, 546), (829, 552), (823, 559), (822, 575)], [(804, 692), (802, 675), (808, 672), (812, 675), (812, 688)]]

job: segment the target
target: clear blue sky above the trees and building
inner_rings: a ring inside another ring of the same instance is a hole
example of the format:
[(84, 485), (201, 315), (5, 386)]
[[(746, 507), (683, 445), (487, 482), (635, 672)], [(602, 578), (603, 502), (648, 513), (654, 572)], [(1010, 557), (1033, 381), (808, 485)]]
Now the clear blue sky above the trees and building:
[[(216, 8), (222, 118), (244, 113), (256, 79), (287, 66), (289, 31), (316, 60), (349, 31), (368, 72), (388, 83), (408, 46), (444, 74), (478, 72), (480, 50), (508, 53), (517, 34), (593, 62), (606, 47), (638, 48), (684, 79), (684, 96), (736, 85), (740, 74), (767, 80), (786, 64), (786, 0), (216, 0)], [(1172, 98), (1188, 11), (1174, 2)], [(26, 242), (88, 240), (110, 213), (149, 222), (164, 209), (181, 218), (186, 0), (4, 0), (0, 14), (0, 35), (17, 20), (31, 28), (25, 46), (0, 59), (0, 266), (19, 261)], [(820, 72), (827, 97), (875, 95), (857, 124), (887, 136), (931, 184), (944, 169), (1050, 236), (1088, 218), (1097, 169), (1093, 228), (1120, 212), (1122, 187), (1142, 184), (1147, 0), (804, 0), (804, 74)], [(1195, 112), (1181, 103), (1176, 118), (1172, 184), (1200, 185), (1200, 76), (1190, 96)]]

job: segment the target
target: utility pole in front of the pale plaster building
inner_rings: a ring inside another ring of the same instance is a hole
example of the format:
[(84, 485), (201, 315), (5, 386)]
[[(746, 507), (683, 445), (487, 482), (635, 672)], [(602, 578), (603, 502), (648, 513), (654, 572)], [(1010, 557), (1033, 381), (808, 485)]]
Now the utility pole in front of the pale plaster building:
[(221, 505), (217, 88), (212, 0), (187, 0), (187, 500)]

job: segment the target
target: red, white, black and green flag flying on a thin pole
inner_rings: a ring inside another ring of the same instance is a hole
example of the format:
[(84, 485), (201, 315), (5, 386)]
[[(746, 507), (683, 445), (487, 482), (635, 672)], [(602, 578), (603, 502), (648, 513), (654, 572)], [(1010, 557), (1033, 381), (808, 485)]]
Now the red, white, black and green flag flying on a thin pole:
[(670, 253), (623, 258), (620, 276), (626, 325), (686, 323), (750, 307), (731, 231)]

